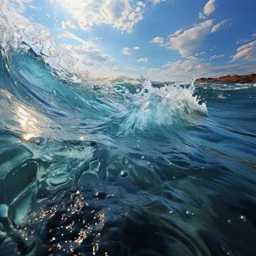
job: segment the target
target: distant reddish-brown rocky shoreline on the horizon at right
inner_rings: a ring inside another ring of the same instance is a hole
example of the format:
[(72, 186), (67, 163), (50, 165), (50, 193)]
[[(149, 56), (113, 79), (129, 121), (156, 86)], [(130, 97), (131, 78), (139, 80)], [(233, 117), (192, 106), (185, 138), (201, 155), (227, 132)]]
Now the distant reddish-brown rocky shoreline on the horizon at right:
[(226, 75), (219, 78), (197, 78), (197, 83), (219, 83), (219, 84), (256, 84), (256, 74), (251, 75)]

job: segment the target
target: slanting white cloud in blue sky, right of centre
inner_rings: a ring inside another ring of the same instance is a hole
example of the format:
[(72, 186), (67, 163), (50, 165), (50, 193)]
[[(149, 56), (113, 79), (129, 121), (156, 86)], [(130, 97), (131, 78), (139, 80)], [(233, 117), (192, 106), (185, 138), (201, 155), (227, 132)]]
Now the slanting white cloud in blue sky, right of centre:
[(184, 30), (178, 37), (171, 37), (165, 46), (168, 50), (178, 50), (182, 57), (186, 57), (200, 48), (205, 37), (210, 34), (212, 26), (213, 20), (203, 21)]

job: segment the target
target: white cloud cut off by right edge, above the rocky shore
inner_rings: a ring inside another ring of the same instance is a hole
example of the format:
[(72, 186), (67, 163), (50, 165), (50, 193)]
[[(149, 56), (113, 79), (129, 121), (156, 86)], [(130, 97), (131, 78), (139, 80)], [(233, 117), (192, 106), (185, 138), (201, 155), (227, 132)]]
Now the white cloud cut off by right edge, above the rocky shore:
[(239, 59), (256, 61), (256, 40), (238, 47), (237, 53), (232, 56), (232, 60), (230, 62), (234, 62)]

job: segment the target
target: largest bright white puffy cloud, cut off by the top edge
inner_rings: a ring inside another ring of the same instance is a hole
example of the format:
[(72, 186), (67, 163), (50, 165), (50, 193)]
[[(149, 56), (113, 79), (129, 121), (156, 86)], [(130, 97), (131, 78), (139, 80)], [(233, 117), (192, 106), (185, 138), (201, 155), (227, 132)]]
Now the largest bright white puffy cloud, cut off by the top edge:
[[(137, 2), (131, 5), (130, 0), (56, 0), (72, 14), (83, 30), (91, 30), (99, 24), (107, 24), (118, 30), (132, 32), (142, 20), (146, 5)], [(95, 9), (95, 7), (98, 7)]]

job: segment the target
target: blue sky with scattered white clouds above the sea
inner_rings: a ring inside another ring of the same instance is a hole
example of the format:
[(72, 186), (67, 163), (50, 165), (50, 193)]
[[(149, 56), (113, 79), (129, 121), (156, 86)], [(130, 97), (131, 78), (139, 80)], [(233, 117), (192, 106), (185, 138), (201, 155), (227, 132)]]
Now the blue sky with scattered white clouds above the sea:
[[(0, 2), (19, 15), (9, 23), (41, 24), (80, 71), (96, 77), (181, 81), (256, 72), (254, 0)], [(49, 46), (49, 37), (42, 40)]]

